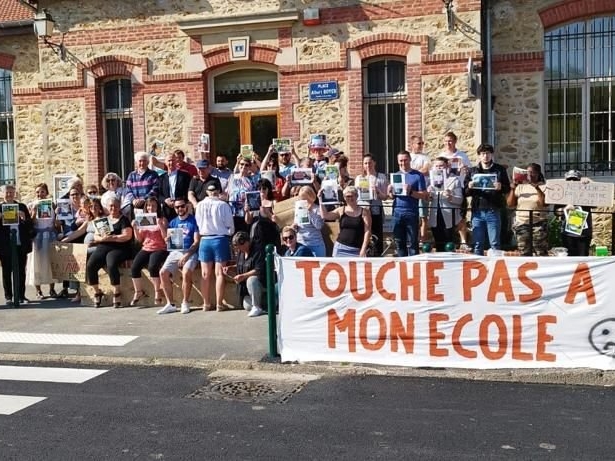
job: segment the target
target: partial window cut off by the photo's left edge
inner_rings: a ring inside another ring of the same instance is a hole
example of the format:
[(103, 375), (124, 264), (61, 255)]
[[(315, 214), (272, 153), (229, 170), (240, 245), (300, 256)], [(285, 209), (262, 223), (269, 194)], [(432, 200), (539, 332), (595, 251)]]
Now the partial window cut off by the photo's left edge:
[(0, 184), (15, 184), (12, 91), (11, 71), (0, 69)]

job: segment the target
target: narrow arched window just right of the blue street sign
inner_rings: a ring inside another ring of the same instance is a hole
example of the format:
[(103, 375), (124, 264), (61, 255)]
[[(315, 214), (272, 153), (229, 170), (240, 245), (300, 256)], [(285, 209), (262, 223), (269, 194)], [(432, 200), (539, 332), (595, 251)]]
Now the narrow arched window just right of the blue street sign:
[(397, 153), (406, 148), (406, 63), (379, 59), (363, 67), (365, 144), (382, 171), (397, 170)]

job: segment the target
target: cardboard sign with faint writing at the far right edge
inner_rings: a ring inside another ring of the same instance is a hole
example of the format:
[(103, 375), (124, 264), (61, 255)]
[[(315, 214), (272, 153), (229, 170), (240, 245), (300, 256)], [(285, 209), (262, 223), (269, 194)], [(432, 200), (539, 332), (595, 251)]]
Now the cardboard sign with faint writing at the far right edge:
[(549, 179), (545, 202), (556, 205), (613, 206), (613, 184), (606, 182)]

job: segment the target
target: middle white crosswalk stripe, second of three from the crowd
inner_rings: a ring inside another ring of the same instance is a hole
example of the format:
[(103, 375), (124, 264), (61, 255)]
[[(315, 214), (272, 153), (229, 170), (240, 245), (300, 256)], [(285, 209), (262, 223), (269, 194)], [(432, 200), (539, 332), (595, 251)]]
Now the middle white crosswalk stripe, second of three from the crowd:
[(85, 368), (16, 367), (0, 365), (0, 380), (81, 384), (108, 370)]

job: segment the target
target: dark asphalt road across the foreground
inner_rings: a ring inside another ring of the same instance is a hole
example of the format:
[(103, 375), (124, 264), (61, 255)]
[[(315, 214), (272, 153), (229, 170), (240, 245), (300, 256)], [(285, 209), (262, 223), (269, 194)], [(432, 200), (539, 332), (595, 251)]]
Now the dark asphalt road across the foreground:
[(46, 399), (0, 415), (4, 461), (597, 460), (615, 452), (610, 388), (267, 372), (250, 381), (164, 367), (112, 367), (69, 384), (6, 380), (9, 368), (0, 368), (0, 394)]

